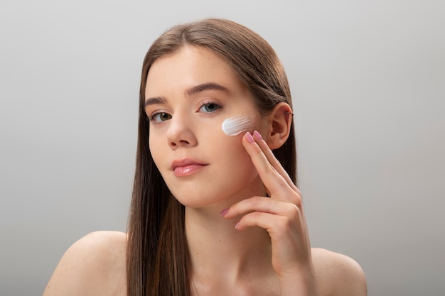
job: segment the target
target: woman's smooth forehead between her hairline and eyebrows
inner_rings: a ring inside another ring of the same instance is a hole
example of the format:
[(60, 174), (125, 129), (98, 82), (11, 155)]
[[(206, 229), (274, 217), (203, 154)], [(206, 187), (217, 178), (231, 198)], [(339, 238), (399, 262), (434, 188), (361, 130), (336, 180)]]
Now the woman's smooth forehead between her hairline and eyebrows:
[(247, 88), (230, 64), (207, 48), (186, 45), (176, 53), (165, 55), (151, 65), (146, 79), (146, 97), (163, 92), (218, 83), (229, 89)]

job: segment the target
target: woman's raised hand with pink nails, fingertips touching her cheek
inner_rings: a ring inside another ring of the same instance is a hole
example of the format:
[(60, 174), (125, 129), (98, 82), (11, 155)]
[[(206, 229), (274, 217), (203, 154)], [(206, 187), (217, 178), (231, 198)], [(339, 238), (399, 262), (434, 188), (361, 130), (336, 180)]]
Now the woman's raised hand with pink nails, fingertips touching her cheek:
[(246, 133), (242, 144), (252, 158), (269, 197), (250, 197), (233, 204), (223, 215), (244, 215), (237, 230), (259, 226), (272, 241), (272, 266), (280, 280), (281, 295), (318, 295), (311, 263), (311, 244), (302, 208), (301, 192), (294, 185), (262, 136)]

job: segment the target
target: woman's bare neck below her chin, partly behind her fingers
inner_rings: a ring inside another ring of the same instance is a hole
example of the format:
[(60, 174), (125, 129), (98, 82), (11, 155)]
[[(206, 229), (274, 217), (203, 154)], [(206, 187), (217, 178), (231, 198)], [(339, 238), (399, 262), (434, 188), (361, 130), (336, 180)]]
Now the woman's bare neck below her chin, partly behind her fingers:
[(269, 234), (257, 226), (237, 231), (240, 218), (224, 219), (217, 210), (186, 208), (192, 275), (223, 276), (222, 280), (235, 283), (271, 270)]

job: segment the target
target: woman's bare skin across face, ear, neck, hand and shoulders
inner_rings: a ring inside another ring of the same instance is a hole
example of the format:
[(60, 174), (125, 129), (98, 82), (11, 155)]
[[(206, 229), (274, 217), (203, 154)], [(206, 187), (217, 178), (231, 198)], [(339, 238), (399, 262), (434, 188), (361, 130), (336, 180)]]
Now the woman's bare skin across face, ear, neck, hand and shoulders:
[[(184, 97), (208, 82), (229, 92), (207, 89)], [(289, 136), (289, 105), (277, 104), (261, 117), (246, 90), (225, 60), (190, 46), (161, 57), (147, 78), (146, 98), (158, 99), (146, 113), (162, 113), (150, 126), (151, 153), (186, 206), (193, 295), (367, 295), (358, 263), (311, 248), (301, 192), (272, 153)], [(224, 107), (203, 108), (203, 102)], [(225, 136), (220, 123), (237, 113), (253, 114), (252, 130)], [(174, 175), (171, 161), (190, 155), (205, 166)], [(126, 234), (109, 231), (80, 239), (43, 295), (126, 295), (126, 240)]]

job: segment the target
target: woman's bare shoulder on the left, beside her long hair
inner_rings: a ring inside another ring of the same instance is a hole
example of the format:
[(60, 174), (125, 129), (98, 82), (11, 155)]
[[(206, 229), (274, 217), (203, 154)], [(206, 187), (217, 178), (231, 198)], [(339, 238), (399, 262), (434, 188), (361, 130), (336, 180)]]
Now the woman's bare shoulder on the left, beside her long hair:
[(60, 259), (43, 295), (125, 295), (126, 243), (119, 231), (82, 237)]

